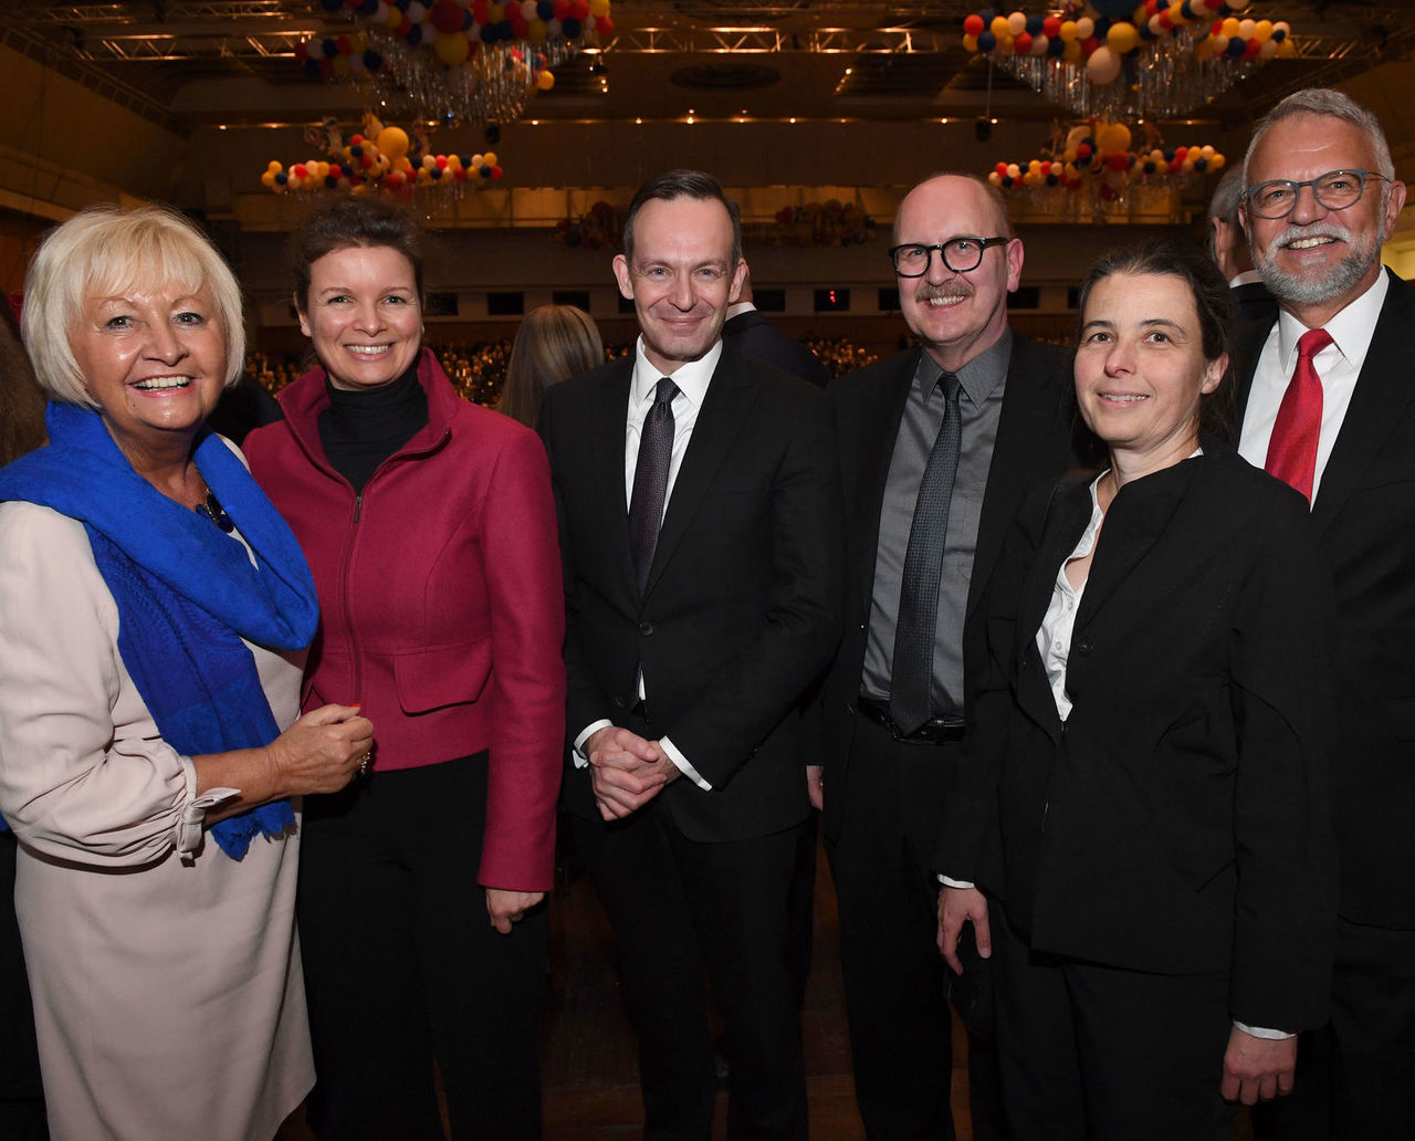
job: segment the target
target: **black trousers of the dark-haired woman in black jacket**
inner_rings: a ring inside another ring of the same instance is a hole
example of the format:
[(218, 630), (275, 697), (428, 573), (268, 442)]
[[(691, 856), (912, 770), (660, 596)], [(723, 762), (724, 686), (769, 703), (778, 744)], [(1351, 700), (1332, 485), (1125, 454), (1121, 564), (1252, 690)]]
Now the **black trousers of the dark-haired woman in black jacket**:
[(1228, 975), (1159, 975), (1032, 951), (989, 909), (1013, 1141), (1227, 1141)]

